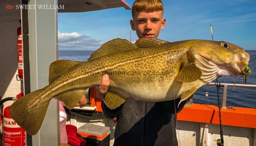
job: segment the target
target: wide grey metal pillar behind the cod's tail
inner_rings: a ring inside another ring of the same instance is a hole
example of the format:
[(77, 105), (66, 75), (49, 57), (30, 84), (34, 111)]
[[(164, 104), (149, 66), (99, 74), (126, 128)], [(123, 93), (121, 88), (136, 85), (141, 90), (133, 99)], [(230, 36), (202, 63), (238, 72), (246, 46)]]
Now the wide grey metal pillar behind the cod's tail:
[[(58, 58), (58, 9), (40, 9), (38, 5), (57, 6), (58, 0), (29, 0), (28, 4), (37, 5), (27, 10), (30, 90), (35, 91), (49, 84), (49, 66)], [(27, 146), (31, 143), (33, 146), (60, 145), (59, 101), (50, 101), (40, 130)]]

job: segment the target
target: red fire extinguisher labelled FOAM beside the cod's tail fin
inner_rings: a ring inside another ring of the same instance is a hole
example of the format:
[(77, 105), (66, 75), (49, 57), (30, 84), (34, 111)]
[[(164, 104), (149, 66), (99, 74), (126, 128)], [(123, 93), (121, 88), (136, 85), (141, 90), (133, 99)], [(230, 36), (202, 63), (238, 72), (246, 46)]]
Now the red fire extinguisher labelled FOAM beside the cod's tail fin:
[[(22, 91), (17, 98), (23, 95)], [(6, 107), (3, 112), (3, 146), (26, 146), (26, 132), (12, 119), (9, 108)]]

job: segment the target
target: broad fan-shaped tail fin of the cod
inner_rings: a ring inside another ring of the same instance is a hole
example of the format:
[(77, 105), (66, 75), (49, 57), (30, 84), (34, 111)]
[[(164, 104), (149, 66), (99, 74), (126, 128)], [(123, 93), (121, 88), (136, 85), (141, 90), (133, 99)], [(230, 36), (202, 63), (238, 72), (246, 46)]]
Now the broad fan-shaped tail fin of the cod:
[(38, 102), (41, 100), (38, 95), (42, 90), (39, 89), (23, 96), (9, 108), (12, 119), (30, 135), (35, 135), (39, 131), (50, 103), (50, 100)]

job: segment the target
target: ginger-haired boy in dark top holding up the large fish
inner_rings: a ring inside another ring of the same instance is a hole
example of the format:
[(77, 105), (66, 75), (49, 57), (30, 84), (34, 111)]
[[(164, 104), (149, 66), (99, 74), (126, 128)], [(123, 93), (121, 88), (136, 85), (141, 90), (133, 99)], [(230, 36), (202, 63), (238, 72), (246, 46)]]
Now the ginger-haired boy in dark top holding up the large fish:
[[(157, 38), (165, 27), (163, 4), (161, 0), (136, 0), (132, 7), (132, 30), (139, 38)], [(103, 100), (110, 79), (105, 75), (96, 91), (96, 96)], [(129, 98), (117, 109), (111, 110), (102, 102), (102, 109), (108, 118), (117, 117), (114, 146), (178, 146), (176, 137), (176, 116), (186, 101), (179, 108), (180, 98), (163, 102), (145, 102)]]

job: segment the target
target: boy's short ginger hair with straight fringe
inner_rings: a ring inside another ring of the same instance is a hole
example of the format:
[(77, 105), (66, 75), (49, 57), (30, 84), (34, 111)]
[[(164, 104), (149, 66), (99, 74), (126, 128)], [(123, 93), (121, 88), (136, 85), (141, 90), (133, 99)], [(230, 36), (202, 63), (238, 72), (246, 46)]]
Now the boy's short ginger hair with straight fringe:
[(163, 11), (163, 3), (161, 0), (135, 0), (131, 10), (131, 14), (134, 17), (135, 12), (155, 12)]

